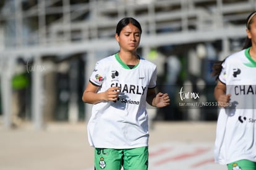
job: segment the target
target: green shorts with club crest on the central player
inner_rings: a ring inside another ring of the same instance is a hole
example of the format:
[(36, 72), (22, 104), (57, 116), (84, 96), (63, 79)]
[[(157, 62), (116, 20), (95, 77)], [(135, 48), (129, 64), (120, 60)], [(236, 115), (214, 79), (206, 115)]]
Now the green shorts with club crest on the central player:
[(105, 170), (147, 170), (148, 147), (131, 149), (95, 148), (95, 169)]

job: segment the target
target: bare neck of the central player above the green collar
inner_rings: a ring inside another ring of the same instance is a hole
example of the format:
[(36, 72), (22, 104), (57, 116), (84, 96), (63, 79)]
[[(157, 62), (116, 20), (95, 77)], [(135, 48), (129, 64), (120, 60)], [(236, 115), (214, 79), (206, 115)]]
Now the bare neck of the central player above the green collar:
[(137, 53), (129, 53), (129, 52), (120, 51), (118, 53), (118, 56), (120, 57), (122, 62), (124, 62), (124, 64), (127, 64), (127, 65), (135, 66), (140, 61)]

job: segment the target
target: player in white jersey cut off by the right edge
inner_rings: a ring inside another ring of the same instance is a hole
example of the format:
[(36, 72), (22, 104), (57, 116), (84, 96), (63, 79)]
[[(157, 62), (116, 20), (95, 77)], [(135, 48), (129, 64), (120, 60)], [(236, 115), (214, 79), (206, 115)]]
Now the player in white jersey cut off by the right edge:
[(215, 65), (215, 99), (222, 107), (215, 140), (215, 161), (229, 170), (256, 169), (256, 11), (247, 18), (242, 51)]

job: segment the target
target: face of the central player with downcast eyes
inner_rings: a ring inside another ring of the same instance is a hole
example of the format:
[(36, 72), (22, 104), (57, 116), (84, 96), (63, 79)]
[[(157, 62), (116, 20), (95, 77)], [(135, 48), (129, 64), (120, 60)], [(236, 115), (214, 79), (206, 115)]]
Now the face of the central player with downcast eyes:
[(122, 28), (119, 36), (117, 34), (115, 36), (120, 49), (124, 51), (136, 51), (140, 44), (140, 30), (132, 23)]

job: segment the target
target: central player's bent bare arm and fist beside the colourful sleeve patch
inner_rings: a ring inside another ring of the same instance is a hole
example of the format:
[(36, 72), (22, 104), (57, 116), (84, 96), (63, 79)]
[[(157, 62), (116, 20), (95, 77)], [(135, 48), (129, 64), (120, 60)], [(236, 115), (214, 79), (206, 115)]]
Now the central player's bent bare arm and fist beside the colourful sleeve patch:
[(108, 90), (97, 93), (100, 87), (89, 82), (85, 91), (83, 91), (82, 101), (85, 103), (96, 104), (101, 101), (115, 101), (117, 100), (119, 87), (110, 87)]

